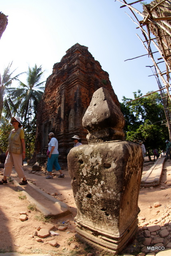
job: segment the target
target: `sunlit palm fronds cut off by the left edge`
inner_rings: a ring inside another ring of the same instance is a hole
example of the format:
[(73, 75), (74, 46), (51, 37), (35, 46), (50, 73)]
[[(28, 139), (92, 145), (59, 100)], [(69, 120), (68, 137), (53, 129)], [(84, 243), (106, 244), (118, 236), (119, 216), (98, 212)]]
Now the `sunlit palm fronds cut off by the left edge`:
[[(6, 108), (9, 110), (10, 110), (11, 106), (13, 105), (14, 112), (16, 112), (15, 106), (10, 98), (10, 91), (12, 89), (12, 88), (10, 88), (10, 86), (11, 86), (12, 82), (14, 80), (17, 80), (18, 76), (20, 76), (24, 72), (12, 77), (12, 74), (16, 71), (16, 69), (11, 72), (10, 71), (11, 66), (12, 66), (12, 62), (9, 63), (8, 66), (4, 69), (3, 75), (2, 76), (0, 75), (0, 118), (1, 118), (4, 103), (6, 105)], [(11, 106), (10, 106), (10, 104), (11, 104)], [(9, 114), (9, 117), (10, 117), (10, 115), (11, 114)]]

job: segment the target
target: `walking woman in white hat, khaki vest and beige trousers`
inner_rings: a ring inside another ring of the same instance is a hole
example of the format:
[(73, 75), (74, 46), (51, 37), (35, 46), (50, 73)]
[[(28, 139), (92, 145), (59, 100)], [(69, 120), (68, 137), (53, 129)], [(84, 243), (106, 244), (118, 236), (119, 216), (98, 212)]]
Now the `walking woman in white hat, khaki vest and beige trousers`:
[(18, 177), (23, 179), (22, 182), (19, 182), (19, 184), (26, 185), (28, 182), (22, 168), (22, 160), (26, 158), (24, 130), (21, 129), (22, 124), (18, 116), (11, 118), (11, 124), (14, 126), (14, 129), (11, 130), (8, 137), (8, 149), (6, 151), (7, 157), (4, 165), (4, 177), (0, 181), (0, 185), (8, 183), (6, 178), (10, 177), (13, 165)]

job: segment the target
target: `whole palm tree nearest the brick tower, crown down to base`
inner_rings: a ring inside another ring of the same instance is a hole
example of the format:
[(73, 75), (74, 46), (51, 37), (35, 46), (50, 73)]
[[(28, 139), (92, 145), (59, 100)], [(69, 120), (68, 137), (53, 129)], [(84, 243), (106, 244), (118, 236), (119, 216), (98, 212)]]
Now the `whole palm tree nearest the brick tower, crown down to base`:
[(36, 64), (33, 68), (29, 67), (26, 72), (26, 83), (18, 80), (18, 88), (11, 90), (12, 102), (18, 109), (18, 116), (23, 120), (26, 154), (29, 158), (34, 149), (37, 104), (40, 102), (45, 88), (43, 86), (45, 81), (41, 82), (43, 72), (41, 66), (38, 68)]

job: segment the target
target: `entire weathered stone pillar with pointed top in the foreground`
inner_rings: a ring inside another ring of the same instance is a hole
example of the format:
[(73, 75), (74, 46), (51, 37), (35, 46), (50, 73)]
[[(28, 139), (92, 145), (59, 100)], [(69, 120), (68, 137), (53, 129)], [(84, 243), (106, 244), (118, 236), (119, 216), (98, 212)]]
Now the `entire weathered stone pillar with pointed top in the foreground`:
[(138, 228), (143, 158), (138, 144), (123, 140), (124, 116), (108, 90), (94, 92), (83, 117), (88, 145), (68, 154), (77, 205), (78, 235), (96, 246), (121, 252)]

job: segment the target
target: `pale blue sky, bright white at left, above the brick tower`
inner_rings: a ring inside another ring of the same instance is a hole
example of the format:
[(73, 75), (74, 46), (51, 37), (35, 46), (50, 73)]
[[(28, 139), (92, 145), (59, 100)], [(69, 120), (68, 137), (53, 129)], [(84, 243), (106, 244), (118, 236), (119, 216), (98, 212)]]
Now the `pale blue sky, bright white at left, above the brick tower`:
[[(143, 38), (140, 29), (121, 5), (114, 0), (1, 1), (0, 11), (8, 15), (8, 25), (0, 39), (0, 72), (11, 61), (16, 74), (37, 64), (45, 70), (46, 80), (53, 64), (79, 43), (108, 72), (120, 102), (122, 96), (133, 98), (132, 92), (138, 89), (143, 94), (158, 90), (151, 69), (145, 67), (152, 65), (150, 58), (124, 61), (147, 52), (136, 36)], [(142, 11), (141, 4), (134, 7)]]

